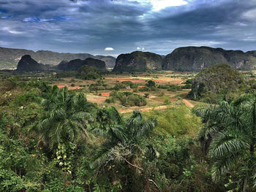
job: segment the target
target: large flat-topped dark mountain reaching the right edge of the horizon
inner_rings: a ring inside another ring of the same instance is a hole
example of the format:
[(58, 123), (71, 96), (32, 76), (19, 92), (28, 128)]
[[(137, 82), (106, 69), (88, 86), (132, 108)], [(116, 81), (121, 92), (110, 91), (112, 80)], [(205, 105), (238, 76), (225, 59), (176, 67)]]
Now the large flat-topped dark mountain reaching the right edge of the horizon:
[(223, 50), (211, 47), (179, 47), (165, 56), (163, 69), (200, 71), (207, 66), (230, 64), (235, 69), (256, 69), (256, 51)]

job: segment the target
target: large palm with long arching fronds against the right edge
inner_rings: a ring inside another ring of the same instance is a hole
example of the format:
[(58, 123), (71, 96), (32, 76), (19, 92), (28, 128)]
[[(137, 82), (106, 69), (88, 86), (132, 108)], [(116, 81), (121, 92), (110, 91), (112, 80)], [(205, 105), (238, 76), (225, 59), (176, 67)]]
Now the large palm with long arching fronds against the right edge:
[(256, 96), (243, 95), (230, 103), (202, 106), (195, 113), (204, 123), (199, 139), (214, 162), (213, 179), (217, 181), (236, 170), (241, 190), (255, 191)]

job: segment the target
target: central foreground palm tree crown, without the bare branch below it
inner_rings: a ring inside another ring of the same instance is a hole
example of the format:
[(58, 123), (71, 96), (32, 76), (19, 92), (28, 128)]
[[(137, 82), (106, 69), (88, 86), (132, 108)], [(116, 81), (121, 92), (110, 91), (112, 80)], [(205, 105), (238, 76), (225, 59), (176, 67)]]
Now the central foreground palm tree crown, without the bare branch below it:
[[(118, 117), (118, 112), (115, 111), (114, 113), (116, 115), (111, 116), (113, 119)], [(134, 111), (127, 120), (117, 120), (110, 124), (108, 128), (99, 125), (94, 133), (98, 132), (105, 137), (105, 142), (98, 151), (94, 166), (107, 165), (114, 160), (127, 161), (127, 158), (142, 152), (140, 139), (146, 137), (155, 126), (157, 126), (157, 120), (145, 120), (139, 111)]]

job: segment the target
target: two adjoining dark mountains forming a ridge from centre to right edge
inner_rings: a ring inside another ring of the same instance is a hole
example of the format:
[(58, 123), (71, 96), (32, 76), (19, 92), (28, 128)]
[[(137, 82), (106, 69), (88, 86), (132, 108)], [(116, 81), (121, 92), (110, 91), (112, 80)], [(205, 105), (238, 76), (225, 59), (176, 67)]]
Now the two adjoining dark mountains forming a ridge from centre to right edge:
[(229, 64), (239, 70), (256, 69), (256, 51), (224, 50), (212, 47), (178, 47), (162, 56), (135, 51), (116, 58), (114, 72), (143, 72), (147, 70), (171, 70), (199, 72), (208, 66)]

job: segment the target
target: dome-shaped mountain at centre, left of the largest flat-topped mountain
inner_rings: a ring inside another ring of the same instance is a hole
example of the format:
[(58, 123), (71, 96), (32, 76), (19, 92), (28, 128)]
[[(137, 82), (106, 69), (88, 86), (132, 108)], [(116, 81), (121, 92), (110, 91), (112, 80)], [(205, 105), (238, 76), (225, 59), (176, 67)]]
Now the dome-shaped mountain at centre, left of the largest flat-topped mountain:
[(135, 51), (118, 55), (113, 72), (143, 72), (148, 69), (161, 70), (162, 64), (163, 58), (161, 55)]

